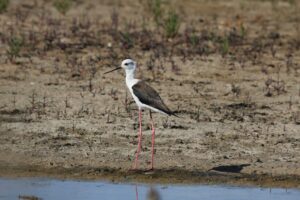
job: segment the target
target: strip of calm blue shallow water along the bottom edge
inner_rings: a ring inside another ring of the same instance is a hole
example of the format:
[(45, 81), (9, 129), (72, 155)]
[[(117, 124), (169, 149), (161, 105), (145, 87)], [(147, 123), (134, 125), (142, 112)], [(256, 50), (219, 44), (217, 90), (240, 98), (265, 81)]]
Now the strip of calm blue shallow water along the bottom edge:
[(74, 181), (46, 178), (0, 179), (0, 199), (35, 196), (41, 199), (147, 199), (154, 188), (162, 200), (299, 200), (299, 189), (231, 187), (215, 185), (144, 185), (101, 181)]

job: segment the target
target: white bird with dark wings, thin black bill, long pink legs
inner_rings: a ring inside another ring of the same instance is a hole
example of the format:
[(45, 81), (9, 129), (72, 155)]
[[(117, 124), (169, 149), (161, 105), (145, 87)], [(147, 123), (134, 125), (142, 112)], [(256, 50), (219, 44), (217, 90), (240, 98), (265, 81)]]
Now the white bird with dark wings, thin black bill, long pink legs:
[[(152, 152), (151, 152), (151, 169), (154, 165), (154, 143), (155, 143), (155, 128), (152, 119), (151, 110), (155, 112), (160, 112), (167, 115), (175, 115), (163, 100), (160, 98), (159, 94), (144, 81), (135, 79), (134, 74), (136, 70), (136, 62), (131, 59), (126, 59), (122, 61), (121, 67), (113, 69), (111, 71), (105, 72), (104, 74), (113, 72), (118, 69), (125, 69), (126, 72), (126, 85), (136, 102), (139, 109), (139, 134), (138, 134), (138, 148), (136, 151), (134, 169), (137, 167), (139, 153), (141, 151), (141, 142), (142, 142), (142, 109), (150, 110), (150, 119), (151, 119), (151, 129), (152, 129)], [(175, 115), (176, 116), (176, 115)]]

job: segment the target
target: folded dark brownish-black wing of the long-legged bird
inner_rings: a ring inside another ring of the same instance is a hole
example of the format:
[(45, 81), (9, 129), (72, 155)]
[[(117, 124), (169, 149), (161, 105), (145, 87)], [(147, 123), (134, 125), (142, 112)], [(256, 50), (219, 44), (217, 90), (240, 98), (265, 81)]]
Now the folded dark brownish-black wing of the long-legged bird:
[(134, 95), (146, 105), (156, 108), (168, 115), (174, 115), (174, 113), (166, 106), (159, 94), (144, 81), (139, 81), (132, 86)]

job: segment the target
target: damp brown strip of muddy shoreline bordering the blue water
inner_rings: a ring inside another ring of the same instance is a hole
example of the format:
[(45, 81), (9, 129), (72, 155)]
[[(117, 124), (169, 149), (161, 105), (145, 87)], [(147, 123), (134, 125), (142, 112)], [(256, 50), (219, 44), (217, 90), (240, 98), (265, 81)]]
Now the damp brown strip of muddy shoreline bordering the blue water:
[(0, 168), (2, 178), (54, 178), (142, 184), (232, 185), (237, 187), (300, 189), (300, 176), (190, 171), (179, 168), (126, 171), (113, 168)]

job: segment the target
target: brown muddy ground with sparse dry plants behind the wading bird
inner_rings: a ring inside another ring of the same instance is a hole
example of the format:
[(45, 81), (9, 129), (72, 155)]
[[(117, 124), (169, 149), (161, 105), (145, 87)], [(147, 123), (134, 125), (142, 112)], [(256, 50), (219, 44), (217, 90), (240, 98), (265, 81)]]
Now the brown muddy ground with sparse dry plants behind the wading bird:
[[(149, 1), (151, 2), (151, 1)], [(300, 187), (300, 5), (11, 1), (0, 14), (0, 174)], [(166, 32), (168, 10), (180, 19)], [(125, 58), (179, 118), (154, 114), (156, 151)], [(212, 170), (215, 169), (215, 170)], [(221, 172), (220, 172), (221, 171)]]

